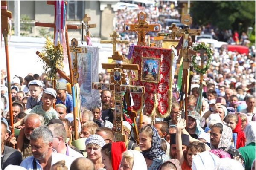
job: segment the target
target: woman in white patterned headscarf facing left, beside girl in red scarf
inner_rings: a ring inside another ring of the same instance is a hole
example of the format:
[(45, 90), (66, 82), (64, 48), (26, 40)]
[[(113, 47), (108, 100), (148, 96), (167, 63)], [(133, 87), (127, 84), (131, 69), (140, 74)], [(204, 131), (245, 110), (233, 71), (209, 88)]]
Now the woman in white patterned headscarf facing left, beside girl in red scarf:
[(230, 147), (232, 140), (232, 130), (224, 124), (217, 123), (212, 125), (210, 132), (210, 147), (218, 149), (220, 147)]

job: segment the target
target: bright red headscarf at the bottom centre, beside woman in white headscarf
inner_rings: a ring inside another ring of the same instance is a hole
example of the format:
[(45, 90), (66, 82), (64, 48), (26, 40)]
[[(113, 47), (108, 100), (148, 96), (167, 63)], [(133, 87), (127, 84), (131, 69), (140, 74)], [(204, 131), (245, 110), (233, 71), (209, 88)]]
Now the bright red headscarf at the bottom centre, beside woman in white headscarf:
[(122, 153), (125, 152), (124, 142), (113, 142), (111, 144), (111, 161), (113, 170), (118, 170), (122, 159)]

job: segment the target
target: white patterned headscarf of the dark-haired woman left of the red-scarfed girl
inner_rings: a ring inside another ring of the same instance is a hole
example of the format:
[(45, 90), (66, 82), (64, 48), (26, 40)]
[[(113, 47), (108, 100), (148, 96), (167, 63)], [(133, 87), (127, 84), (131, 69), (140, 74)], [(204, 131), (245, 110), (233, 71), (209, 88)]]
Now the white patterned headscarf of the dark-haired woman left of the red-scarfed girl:
[[(221, 138), (218, 144), (218, 148), (220, 147), (230, 147), (231, 145), (231, 140), (232, 140), (232, 130), (230, 127), (222, 124), (223, 126), (223, 130), (221, 133)], [(210, 144), (211, 149), (218, 149), (215, 148), (214, 146), (212, 146), (212, 144)]]

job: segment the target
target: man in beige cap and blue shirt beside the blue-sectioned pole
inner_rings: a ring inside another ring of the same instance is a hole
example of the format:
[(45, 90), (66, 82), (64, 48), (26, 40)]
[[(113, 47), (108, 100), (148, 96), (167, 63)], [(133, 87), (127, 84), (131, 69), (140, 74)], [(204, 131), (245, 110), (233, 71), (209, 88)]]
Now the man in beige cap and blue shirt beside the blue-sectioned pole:
[(73, 99), (67, 93), (67, 84), (64, 82), (56, 83), (57, 101), (56, 104), (64, 104), (67, 107), (67, 113), (73, 113)]

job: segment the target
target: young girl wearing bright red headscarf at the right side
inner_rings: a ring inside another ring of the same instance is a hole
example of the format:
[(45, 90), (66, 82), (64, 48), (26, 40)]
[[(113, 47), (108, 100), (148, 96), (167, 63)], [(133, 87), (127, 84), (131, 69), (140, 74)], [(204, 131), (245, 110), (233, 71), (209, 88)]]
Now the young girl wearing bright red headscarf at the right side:
[(234, 146), (236, 149), (245, 146), (245, 136), (241, 127), (241, 118), (236, 114), (229, 114), (226, 116), (227, 126), (231, 128), (233, 134)]

